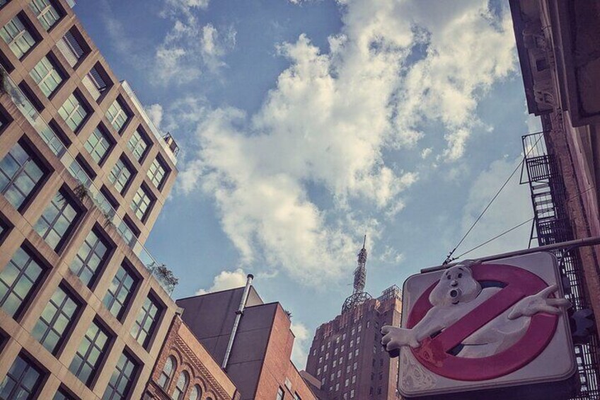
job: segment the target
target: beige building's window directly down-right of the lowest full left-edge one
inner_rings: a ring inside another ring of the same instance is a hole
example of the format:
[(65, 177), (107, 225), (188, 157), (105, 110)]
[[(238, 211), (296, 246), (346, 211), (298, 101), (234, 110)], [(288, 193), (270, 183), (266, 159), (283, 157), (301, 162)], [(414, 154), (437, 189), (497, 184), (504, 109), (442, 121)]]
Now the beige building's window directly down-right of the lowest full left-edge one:
[(32, 336), (42, 343), (46, 350), (56, 355), (75, 319), (78, 308), (79, 304), (73, 297), (62, 287), (57, 287), (40, 319), (37, 320)]

